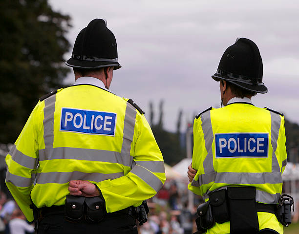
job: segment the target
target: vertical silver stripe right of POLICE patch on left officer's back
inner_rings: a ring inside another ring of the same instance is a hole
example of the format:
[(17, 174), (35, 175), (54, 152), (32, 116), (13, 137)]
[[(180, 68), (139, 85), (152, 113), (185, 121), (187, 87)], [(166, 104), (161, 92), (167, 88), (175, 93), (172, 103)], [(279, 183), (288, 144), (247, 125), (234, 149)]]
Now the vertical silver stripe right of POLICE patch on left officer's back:
[(121, 157), (125, 165), (132, 165), (133, 158), (130, 156), (131, 143), (134, 136), (136, 121), (136, 109), (127, 102), (126, 115), (124, 119), (124, 135)]

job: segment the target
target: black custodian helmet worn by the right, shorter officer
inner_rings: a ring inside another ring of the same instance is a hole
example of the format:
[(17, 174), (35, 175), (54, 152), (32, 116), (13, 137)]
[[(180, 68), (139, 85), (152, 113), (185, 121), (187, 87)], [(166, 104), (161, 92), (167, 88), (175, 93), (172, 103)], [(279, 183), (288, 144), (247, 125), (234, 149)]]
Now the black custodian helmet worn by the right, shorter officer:
[(225, 80), (241, 88), (257, 93), (266, 93), (268, 88), (263, 80), (263, 62), (256, 43), (247, 39), (237, 39), (221, 57), (215, 81)]

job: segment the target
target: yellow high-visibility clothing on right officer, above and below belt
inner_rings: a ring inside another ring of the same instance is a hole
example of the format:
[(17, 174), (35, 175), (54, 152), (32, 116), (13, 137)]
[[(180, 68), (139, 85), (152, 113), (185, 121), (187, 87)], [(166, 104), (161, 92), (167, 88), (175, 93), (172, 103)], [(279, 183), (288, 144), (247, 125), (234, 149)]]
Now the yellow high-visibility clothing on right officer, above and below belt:
[[(208, 200), (226, 186), (256, 187), (256, 202), (278, 204), (287, 164), (284, 117), (249, 103), (210, 108), (194, 120), (192, 168), (188, 189)], [(272, 213), (258, 212), (259, 228), (283, 233)], [(208, 234), (230, 233), (230, 222), (216, 223)]]

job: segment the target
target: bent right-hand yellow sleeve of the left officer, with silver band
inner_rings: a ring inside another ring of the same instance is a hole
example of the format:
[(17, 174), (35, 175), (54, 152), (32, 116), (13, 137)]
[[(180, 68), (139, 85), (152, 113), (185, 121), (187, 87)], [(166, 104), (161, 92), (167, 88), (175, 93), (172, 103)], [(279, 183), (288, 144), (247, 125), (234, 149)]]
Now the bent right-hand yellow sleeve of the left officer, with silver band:
[(166, 179), (161, 151), (149, 123), (139, 112), (136, 113), (130, 155), (132, 169), (124, 176), (96, 183), (104, 196), (108, 213), (140, 205), (143, 200), (154, 196)]

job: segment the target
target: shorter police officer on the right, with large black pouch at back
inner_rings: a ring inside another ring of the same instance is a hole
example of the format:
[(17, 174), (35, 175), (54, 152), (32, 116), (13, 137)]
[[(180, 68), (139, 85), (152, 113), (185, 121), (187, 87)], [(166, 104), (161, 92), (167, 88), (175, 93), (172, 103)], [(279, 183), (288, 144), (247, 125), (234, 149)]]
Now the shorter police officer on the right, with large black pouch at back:
[(224, 107), (194, 120), (188, 188), (209, 200), (197, 210), (202, 233), (283, 233), (275, 214), (287, 164), (284, 117), (252, 103), (268, 91), (262, 73), (256, 44), (237, 39), (212, 76)]

